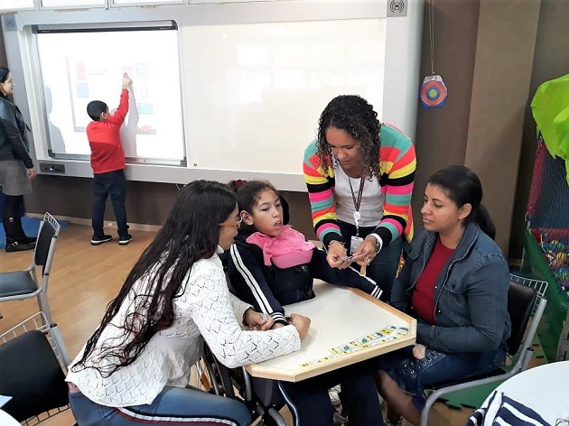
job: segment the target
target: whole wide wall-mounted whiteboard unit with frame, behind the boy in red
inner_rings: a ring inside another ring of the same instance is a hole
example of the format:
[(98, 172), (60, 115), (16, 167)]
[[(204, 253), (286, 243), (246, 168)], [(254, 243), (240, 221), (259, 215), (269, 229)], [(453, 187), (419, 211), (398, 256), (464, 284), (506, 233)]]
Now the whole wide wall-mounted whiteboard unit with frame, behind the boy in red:
[(265, 179), (304, 191), (303, 150), (333, 97), (366, 97), (382, 121), (415, 134), (423, 0), (391, 3), (18, 12), (3, 30), (6, 55), (40, 172), (91, 176), (82, 111), (93, 98), (116, 107), (130, 70), (128, 179)]

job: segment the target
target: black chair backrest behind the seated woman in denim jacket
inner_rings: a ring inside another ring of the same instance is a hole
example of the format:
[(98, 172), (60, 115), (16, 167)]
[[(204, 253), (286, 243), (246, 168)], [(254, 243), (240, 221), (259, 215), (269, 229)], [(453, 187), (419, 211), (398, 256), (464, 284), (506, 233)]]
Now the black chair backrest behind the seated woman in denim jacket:
[(508, 313), (512, 324), (507, 342), (509, 355), (513, 356), (518, 352), (536, 303), (536, 297), (537, 293), (534, 289), (518, 284), (518, 282), (509, 282)]

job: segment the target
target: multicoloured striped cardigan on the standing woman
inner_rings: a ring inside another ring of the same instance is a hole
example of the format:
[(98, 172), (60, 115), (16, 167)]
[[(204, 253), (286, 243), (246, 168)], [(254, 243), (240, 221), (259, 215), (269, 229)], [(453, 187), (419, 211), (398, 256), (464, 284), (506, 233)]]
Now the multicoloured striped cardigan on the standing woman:
[[(385, 194), (383, 218), (374, 231), (387, 245), (403, 234), (413, 238), (411, 194), (415, 181), (415, 147), (411, 139), (395, 127), (381, 125), (379, 150), (379, 184)], [(328, 246), (340, 239), (334, 200), (334, 171), (320, 166), (316, 155), (316, 140), (304, 151), (304, 181), (312, 208), (312, 223), (316, 236)]]

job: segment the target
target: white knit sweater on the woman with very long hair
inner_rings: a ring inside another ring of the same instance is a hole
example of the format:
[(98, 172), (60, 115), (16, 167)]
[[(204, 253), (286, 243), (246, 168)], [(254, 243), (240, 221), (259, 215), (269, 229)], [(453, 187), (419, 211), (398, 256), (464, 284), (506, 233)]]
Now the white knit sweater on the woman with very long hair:
[[(230, 368), (288, 354), (300, 348), (294, 326), (268, 331), (245, 331), (240, 320), (251, 306), (229, 292), (218, 255), (193, 264), (182, 295), (173, 300), (174, 321), (169, 329), (156, 333), (135, 362), (104, 377), (93, 366), (93, 358), (103, 345), (116, 347), (124, 340), (126, 315), (134, 313), (133, 295), (141, 294), (146, 279), (135, 283), (117, 316), (111, 320), (89, 357), (88, 368), (78, 367), (67, 375), (91, 401), (111, 407), (148, 404), (165, 385), (184, 387), (190, 381), (190, 369), (201, 355), (202, 336), (221, 363)], [(83, 349), (84, 350), (84, 349)], [(71, 363), (79, 361), (83, 350)], [(110, 359), (109, 359), (110, 358)], [(109, 366), (106, 357), (98, 366)]]

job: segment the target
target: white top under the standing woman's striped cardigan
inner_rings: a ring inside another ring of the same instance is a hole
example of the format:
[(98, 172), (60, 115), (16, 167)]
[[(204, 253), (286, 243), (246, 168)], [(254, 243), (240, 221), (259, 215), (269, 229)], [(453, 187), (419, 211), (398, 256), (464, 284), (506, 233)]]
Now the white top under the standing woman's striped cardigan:
[[(354, 223), (354, 199), (351, 196), (353, 190), (354, 198), (358, 199), (360, 178), (350, 178), (342, 170), (340, 164), (334, 162), (334, 199), (336, 201), (336, 217), (342, 222)], [(351, 182), (351, 188), (350, 188)], [(361, 193), (361, 203), (359, 204), (359, 226), (377, 227), (383, 218), (383, 202), (385, 195), (381, 192), (378, 178), (374, 176), (371, 181), (366, 180)]]

